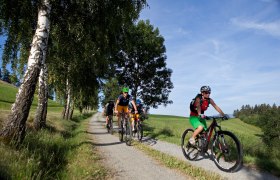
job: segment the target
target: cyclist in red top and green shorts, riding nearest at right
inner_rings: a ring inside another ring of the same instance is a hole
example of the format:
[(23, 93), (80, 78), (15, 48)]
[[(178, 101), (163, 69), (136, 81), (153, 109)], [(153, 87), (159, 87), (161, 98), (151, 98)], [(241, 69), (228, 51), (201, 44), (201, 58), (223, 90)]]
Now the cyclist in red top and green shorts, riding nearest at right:
[(195, 144), (195, 137), (204, 129), (207, 129), (206, 120), (204, 111), (207, 110), (209, 107), (209, 104), (211, 104), (216, 111), (218, 111), (222, 116), (227, 119), (228, 117), (225, 116), (223, 111), (215, 104), (213, 99), (211, 99), (209, 96), (211, 94), (211, 88), (209, 86), (202, 86), (200, 88), (201, 94), (198, 94), (195, 99), (193, 100), (193, 108), (192, 103), (190, 106), (190, 123), (194, 127), (195, 131), (192, 135), (192, 137), (189, 139), (189, 143), (194, 145)]

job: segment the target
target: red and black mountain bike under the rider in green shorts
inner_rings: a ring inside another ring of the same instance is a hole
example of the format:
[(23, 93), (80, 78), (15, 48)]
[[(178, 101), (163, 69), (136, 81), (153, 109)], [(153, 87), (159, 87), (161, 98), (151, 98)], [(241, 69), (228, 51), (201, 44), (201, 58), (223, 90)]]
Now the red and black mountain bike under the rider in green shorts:
[[(243, 163), (243, 151), (240, 141), (229, 131), (223, 131), (217, 120), (223, 117), (207, 116), (212, 123), (206, 131), (202, 131), (195, 138), (195, 145), (189, 143), (194, 130), (186, 129), (181, 138), (181, 148), (184, 156), (191, 161), (197, 160), (199, 155), (208, 154), (216, 166), (225, 172), (235, 172)], [(214, 132), (214, 135), (212, 136)], [(208, 150), (210, 148), (210, 150)], [(209, 153), (210, 152), (210, 155)]]

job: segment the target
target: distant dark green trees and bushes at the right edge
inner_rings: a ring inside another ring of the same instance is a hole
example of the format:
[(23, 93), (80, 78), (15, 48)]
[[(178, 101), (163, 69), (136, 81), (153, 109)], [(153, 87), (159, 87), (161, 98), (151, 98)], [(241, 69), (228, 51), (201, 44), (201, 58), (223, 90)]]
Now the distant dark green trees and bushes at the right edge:
[(234, 111), (234, 116), (242, 121), (260, 127), (263, 141), (280, 158), (280, 106), (273, 104), (245, 105)]

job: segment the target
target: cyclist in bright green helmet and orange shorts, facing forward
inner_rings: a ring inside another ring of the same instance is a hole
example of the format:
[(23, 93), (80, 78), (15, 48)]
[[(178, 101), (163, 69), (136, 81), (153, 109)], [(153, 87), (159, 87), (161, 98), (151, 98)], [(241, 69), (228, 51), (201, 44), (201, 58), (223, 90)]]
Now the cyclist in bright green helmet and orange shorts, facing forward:
[[(115, 113), (118, 116), (118, 126), (120, 128), (120, 113), (124, 112), (126, 113), (126, 116), (128, 116), (128, 104), (129, 102), (132, 103), (133, 107), (136, 109), (135, 101), (131, 95), (128, 94), (129, 88), (124, 87), (122, 89), (122, 94), (119, 95), (116, 105), (115, 105)], [(138, 113), (137, 109), (135, 113)]]

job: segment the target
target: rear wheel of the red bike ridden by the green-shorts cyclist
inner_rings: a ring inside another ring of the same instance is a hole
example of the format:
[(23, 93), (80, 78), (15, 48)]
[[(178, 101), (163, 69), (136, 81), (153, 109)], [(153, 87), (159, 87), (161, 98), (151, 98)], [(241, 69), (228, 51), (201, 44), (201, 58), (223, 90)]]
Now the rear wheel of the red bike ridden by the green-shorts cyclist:
[(197, 139), (195, 140), (196, 145), (191, 145), (189, 143), (189, 139), (192, 137), (193, 132), (194, 132), (193, 129), (186, 129), (181, 138), (181, 148), (183, 154), (187, 159), (191, 161), (195, 160), (200, 153)]

